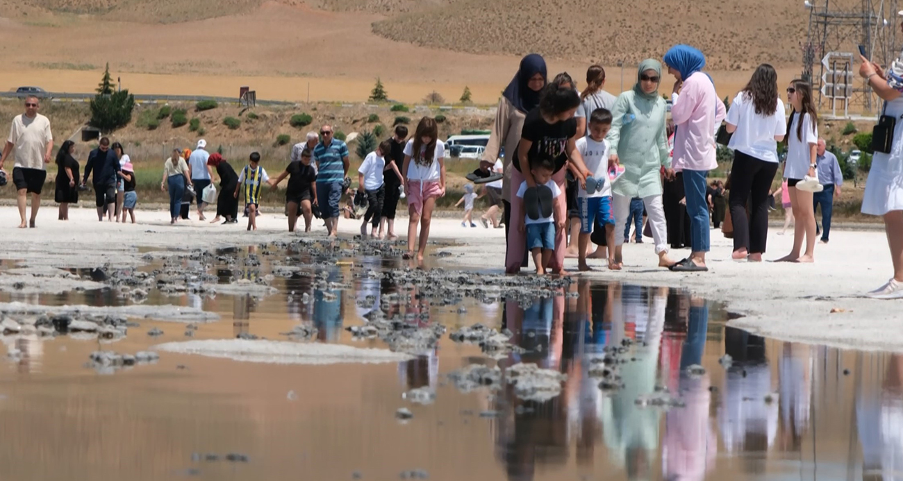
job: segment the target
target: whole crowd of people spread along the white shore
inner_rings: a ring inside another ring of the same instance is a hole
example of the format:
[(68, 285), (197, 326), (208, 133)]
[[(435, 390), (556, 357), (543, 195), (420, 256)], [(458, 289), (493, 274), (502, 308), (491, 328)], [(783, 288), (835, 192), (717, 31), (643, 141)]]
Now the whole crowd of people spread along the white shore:
[[(618, 97), (603, 89), (605, 70), (599, 65), (588, 69), (587, 85), (579, 92), (567, 73), (548, 81), (541, 56), (531, 54), (521, 60), (503, 92), (480, 162), (481, 170), (503, 172), (500, 189), (493, 186), (492, 193), (500, 194), (504, 206), (500, 223), (506, 230), (507, 273), (526, 267), (527, 254), (532, 255), (537, 274), (563, 274), (568, 254), (578, 257), (581, 271), (591, 270), (588, 257), (605, 258), (609, 269), (620, 270), (631, 217), (647, 217), (643, 230), (653, 239), (660, 267), (705, 272), (712, 217), (718, 227), (725, 211), (733, 227), (732, 258), (760, 262), (768, 243), (769, 200), (775, 193), (777, 145), (782, 142), (787, 145), (782, 204), (789, 205), (796, 225), (791, 252), (777, 261), (815, 261), (815, 205), (822, 206), (822, 241), (826, 243), (831, 201), (840, 192), (842, 175), (818, 137), (818, 114), (809, 83), (795, 79), (787, 87), (787, 120), (777, 72), (768, 64), (759, 65), (728, 110), (711, 76), (703, 71), (701, 51), (676, 45), (664, 60), (666, 70), (658, 60), (640, 62), (636, 84)], [(675, 79), (670, 109), (659, 94), (663, 71)], [(885, 116), (903, 113), (903, 78), (895, 72), (861, 59), (862, 78), (886, 101)], [(44, 165), (51, 161), (50, 122), (38, 114), (38, 108), (37, 97), (26, 98), (25, 113), (14, 118), (0, 157), (2, 170), (14, 153), (20, 227), (34, 227)], [(876, 149), (862, 203), (863, 213), (883, 217), (888, 233), (894, 276), (869, 293), (881, 299), (903, 298), (903, 144), (894, 142), (903, 134), (901, 125), (876, 127), (876, 131), (885, 129), (879, 134), (886, 145)], [(734, 154), (726, 184), (707, 180), (717, 167), (717, 143)], [(498, 162), (503, 149), (507, 155)], [(369, 153), (358, 170), (358, 197), (368, 206), (361, 235), (367, 236), (369, 227), (370, 236), (383, 238), (387, 226), (386, 238), (396, 238), (396, 205), (405, 196), (410, 217), (405, 258), (423, 260), (436, 200), (445, 195), (445, 156), (445, 144), (432, 117), (424, 116), (411, 138), (404, 125), (397, 126), (392, 138)], [(98, 220), (107, 215), (125, 222), (128, 213), (135, 222), (135, 172), (121, 144), (110, 146), (106, 137), (100, 139), (98, 149), (88, 155), (80, 183), (73, 143), (63, 144), (57, 163), (61, 219), (68, 218), (68, 205), (78, 200), (93, 171)], [(215, 201), (213, 222), (225, 217), (226, 223), (236, 223), (243, 204), (247, 229), (256, 229), (264, 184), (275, 188), (287, 178), (289, 230), (303, 217), (305, 231), (310, 231), (312, 217), (319, 214), (329, 236), (337, 236), (343, 210), (340, 199), (349, 192), (349, 149), (334, 138), (330, 125), (294, 145), (289, 166), (275, 179), (261, 166), (259, 153), (252, 153), (239, 172), (221, 155), (207, 153), (204, 140), (193, 152), (173, 150), (161, 181), (161, 189), (170, 194), (171, 222), (178, 221), (188, 190), (197, 198), (200, 220), (205, 219), (205, 205)], [(217, 177), (219, 198), (211, 199), (206, 194)], [(0, 182), (5, 182), (5, 172)], [(32, 216), (26, 219), (29, 193)], [(461, 199), (467, 211), (465, 227), (472, 224), (476, 197), (471, 190)], [(489, 219), (498, 227), (491, 209), (480, 220), (488, 226)], [(637, 242), (642, 241), (642, 225), (642, 221), (635, 223)], [(597, 245), (592, 253), (591, 244)], [(684, 246), (691, 253), (675, 261), (672, 251)]]

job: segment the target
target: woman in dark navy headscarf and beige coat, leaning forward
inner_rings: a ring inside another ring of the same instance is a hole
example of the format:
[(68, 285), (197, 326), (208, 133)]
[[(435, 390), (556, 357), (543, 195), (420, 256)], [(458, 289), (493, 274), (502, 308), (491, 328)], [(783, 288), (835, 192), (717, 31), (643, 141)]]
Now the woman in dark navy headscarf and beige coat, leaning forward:
[[(539, 94), (545, 87), (545, 60), (531, 53), (520, 60), (520, 68), (508, 84), (498, 102), (496, 122), (489, 134), (489, 143), (483, 151), (483, 160), (495, 163), (502, 149), (505, 150), (505, 178), (502, 180), (502, 202), (505, 204), (505, 238), (511, 217), (511, 161), (517, 159), (517, 144), (524, 127), (526, 113), (539, 106)], [(526, 266), (526, 250), (524, 262)]]

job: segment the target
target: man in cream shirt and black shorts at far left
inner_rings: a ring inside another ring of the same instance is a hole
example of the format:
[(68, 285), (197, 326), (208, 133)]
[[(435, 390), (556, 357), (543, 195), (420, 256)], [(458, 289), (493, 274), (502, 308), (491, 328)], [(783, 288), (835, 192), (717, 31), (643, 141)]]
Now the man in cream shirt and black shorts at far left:
[[(41, 208), (41, 190), (44, 180), (47, 180), (44, 164), (51, 162), (51, 151), (53, 150), (51, 121), (38, 114), (39, 108), (38, 97), (25, 97), (25, 113), (13, 118), (13, 125), (9, 129), (9, 137), (6, 139), (3, 155), (0, 156), (0, 171), (2, 171), (6, 157), (15, 148), (13, 183), (18, 193), (19, 217), (22, 218), (19, 228), (34, 227), (38, 208)], [(32, 217), (26, 224), (25, 203), (29, 193), (32, 194)]]

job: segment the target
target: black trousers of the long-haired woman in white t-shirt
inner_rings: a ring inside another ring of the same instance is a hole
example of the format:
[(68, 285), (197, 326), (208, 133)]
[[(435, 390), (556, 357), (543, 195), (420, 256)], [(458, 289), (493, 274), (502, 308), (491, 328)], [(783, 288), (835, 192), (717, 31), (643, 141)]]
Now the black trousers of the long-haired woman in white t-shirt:
[[(734, 251), (746, 249), (762, 254), (768, 242), (768, 190), (775, 180), (777, 162), (765, 162), (734, 151), (731, 167), (731, 222), (734, 227)], [(746, 206), (749, 201), (749, 217)]]

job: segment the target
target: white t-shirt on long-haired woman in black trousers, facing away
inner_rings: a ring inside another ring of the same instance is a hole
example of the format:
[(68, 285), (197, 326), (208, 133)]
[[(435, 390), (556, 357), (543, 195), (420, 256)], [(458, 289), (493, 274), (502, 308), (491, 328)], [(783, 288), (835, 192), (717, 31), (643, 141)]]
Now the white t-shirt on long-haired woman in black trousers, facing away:
[(777, 99), (775, 113), (770, 116), (756, 114), (752, 98), (740, 92), (734, 97), (728, 116), (728, 124), (737, 125), (728, 147), (740, 151), (760, 161), (777, 163), (777, 141), (775, 135), (787, 134), (787, 117), (784, 102)]

